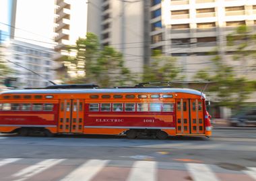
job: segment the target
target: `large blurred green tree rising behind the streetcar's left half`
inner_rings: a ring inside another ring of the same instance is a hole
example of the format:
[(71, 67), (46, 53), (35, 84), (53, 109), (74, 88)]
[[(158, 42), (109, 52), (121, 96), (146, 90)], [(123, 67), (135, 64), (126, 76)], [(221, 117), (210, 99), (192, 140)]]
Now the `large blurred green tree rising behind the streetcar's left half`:
[[(76, 56), (67, 56), (65, 60), (74, 64), (77, 71), (77, 77), (70, 82), (93, 82), (102, 87), (121, 86), (131, 82), (123, 55), (110, 46), (100, 49), (96, 35), (88, 33), (86, 39), (79, 38), (76, 46), (69, 47), (69, 51), (76, 52)], [(81, 73), (83, 71), (84, 74)]]

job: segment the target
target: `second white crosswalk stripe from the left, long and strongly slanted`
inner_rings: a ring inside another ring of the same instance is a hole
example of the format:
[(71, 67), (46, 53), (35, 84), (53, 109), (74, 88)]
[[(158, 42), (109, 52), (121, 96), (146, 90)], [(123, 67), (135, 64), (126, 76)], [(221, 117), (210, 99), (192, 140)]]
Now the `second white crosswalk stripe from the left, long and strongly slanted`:
[(13, 174), (12, 177), (15, 177), (15, 178), (20, 177), (15, 181), (26, 180), (52, 166), (55, 166), (56, 164), (59, 164), (60, 162), (63, 162), (64, 160), (65, 159), (47, 159), (33, 166), (29, 166), (28, 168), (24, 168), (23, 170), (20, 170), (20, 172)]

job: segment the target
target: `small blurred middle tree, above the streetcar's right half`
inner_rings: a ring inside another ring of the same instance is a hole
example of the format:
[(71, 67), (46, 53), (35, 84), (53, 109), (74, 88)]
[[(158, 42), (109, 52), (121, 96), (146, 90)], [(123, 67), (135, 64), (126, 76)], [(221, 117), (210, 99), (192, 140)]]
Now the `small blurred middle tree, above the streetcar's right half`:
[(179, 75), (181, 68), (177, 66), (176, 59), (172, 56), (162, 55), (159, 50), (155, 50), (151, 59), (150, 66), (144, 68), (143, 82), (183, 80), (183, 76)]

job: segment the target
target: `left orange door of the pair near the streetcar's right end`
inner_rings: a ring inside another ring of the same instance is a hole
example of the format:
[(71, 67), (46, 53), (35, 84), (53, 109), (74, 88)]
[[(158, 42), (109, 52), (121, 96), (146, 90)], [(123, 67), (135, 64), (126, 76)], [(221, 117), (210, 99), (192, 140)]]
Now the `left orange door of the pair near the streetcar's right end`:
[(177, 99), (176, 101), (176, 130), (177, 134), (190, 133), (189, 99)]

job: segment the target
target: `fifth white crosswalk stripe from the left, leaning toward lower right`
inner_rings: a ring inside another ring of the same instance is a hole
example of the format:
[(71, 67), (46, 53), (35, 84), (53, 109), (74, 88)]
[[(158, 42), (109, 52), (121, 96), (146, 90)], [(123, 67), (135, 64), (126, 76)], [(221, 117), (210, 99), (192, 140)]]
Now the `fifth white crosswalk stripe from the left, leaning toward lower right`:
[(195, 181), (218, 181), (212, 170), (205, 164), (186, 164), (189, 173)]

